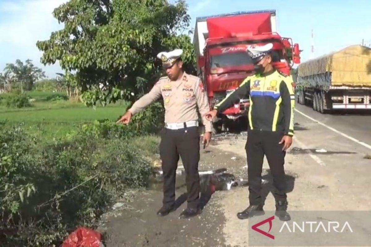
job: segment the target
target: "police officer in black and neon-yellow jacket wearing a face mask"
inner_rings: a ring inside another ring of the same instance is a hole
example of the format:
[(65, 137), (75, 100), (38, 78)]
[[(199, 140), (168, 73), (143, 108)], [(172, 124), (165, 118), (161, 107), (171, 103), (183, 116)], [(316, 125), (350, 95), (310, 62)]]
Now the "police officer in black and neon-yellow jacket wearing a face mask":
[(272, 48), (271, 43), (248, 48), (247, 52), (259, 69), (206, 115), (210, 120), (240, 99), (250, 96), (249, 128), (245, 146), (250, 206), (237, 214), (240, 219), (264, 214), (261, 189), (265, 155), (275, 186), (273, 195), (276, 200), (276, 216), (280, 220), (290, 220), (290, 215), (286, 212), (288, 203), (283, 165), (286, 150), (292, 144), (295, 95), (291, 77), (274, 69), (271, 64)]

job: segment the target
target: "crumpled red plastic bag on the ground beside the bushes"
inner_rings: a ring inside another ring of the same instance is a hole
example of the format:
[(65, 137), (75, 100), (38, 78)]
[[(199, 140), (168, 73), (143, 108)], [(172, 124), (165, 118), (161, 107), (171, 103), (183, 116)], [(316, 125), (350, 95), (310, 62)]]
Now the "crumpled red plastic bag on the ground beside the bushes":
[(101, 247), (101, 234), (89, 228), (79, 227), (69, 234), (62, 247)]

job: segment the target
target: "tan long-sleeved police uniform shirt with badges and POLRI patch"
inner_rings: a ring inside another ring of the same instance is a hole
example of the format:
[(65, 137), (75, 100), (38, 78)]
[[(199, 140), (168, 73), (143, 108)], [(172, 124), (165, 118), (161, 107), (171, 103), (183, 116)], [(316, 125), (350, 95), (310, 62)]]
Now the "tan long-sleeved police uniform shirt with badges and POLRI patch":
[(164, 99), (165, 123), (184, 123), (198, 120), (197, 106), (206, 132), (211, 132), (211, 122), (204, 116), (210, 110), (201, 80), (184, 72), (182, 78), (171, 81), (161, 77), (151, 91), (137, 100), (129, 111), (134, 115), (158, 98)]

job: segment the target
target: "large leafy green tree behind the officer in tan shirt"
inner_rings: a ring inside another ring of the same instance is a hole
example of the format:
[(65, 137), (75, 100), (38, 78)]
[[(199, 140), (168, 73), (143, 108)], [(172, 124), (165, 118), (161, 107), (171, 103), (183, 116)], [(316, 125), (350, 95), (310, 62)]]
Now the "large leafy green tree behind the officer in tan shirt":
[(162, 71), (160, 51), (183, 49), (185, 70), (196, 71), (190, 37), (179, 34), (190, 24), (184, 0), (70, 0), (53, 16), (65, 27), (37, 42), (41, 61), (76, 71), (87, 106), (147, 92)]

